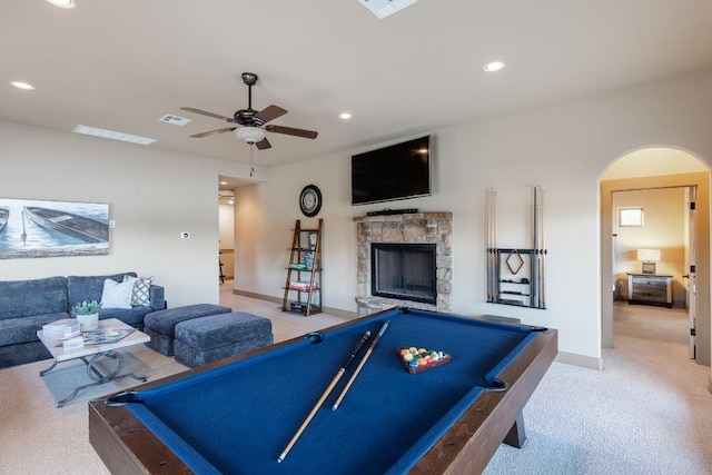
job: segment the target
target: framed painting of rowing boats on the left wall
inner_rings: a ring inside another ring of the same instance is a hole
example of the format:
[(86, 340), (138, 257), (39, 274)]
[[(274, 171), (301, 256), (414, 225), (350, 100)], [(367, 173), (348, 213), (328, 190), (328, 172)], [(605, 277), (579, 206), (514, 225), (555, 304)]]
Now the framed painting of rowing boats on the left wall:
[(0, 198), (0, 259), (109, 254), (109, 205)]

